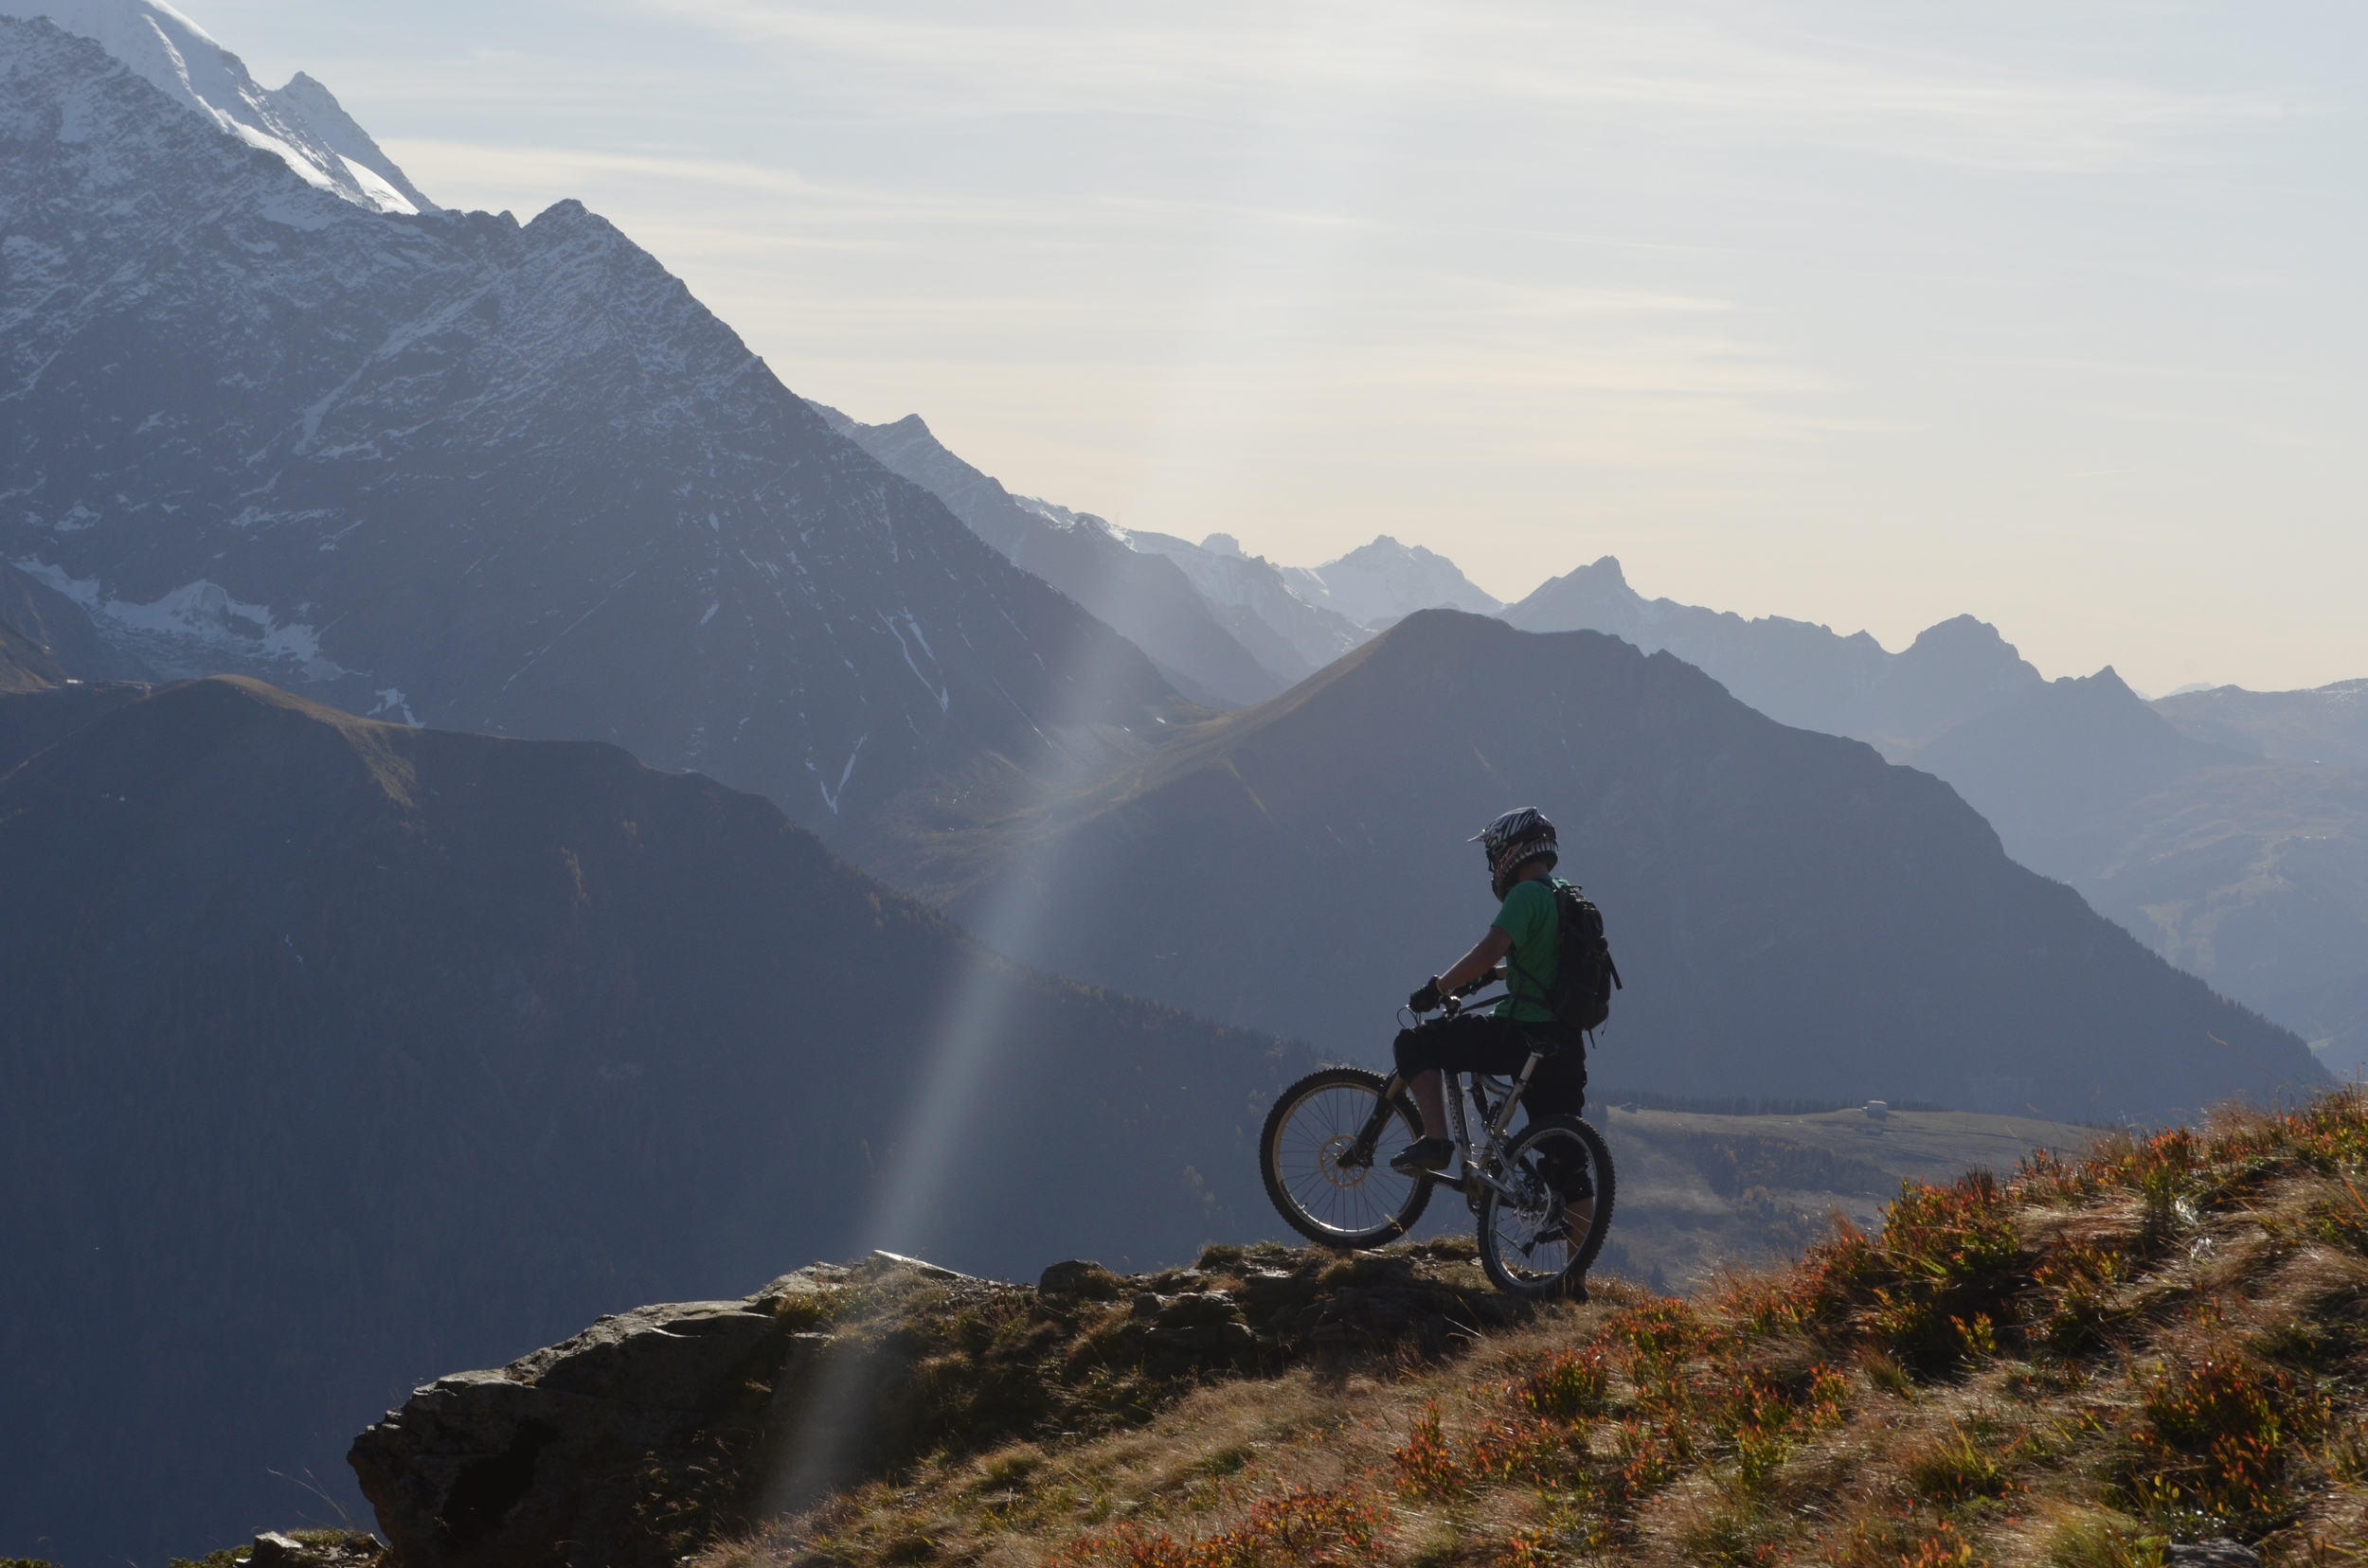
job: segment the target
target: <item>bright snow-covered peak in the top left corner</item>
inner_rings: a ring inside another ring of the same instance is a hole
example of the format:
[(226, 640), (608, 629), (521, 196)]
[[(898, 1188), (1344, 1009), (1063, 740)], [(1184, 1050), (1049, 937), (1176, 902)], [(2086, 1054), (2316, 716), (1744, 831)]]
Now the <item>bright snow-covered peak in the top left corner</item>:
[(277, 92), (258, 85), (237, 54), (163, 0), (0, 0), (0, 17), (47, 17), (95, 40), (173, 102), (282, 159), (305, 185), (374, 213), (436, 211), (327, 88), (303, 71)]

